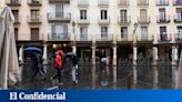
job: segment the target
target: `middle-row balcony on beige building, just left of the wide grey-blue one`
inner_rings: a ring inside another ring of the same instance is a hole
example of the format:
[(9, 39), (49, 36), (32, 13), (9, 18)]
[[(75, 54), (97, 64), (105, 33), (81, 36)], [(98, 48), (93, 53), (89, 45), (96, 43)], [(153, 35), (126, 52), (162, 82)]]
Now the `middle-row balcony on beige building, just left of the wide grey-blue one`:
[(29, 24), (40, 24), (41, 23), (41, 16), (28, 16), (28, 23)]

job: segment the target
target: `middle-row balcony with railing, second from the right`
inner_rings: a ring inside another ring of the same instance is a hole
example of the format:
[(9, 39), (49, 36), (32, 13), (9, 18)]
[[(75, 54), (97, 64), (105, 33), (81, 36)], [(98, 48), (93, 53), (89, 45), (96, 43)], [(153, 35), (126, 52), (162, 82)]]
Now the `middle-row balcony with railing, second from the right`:
[(156, 17), (156, 22), (158, 23), (169, 23), (170, 20), (170, 16), (158, 16)]

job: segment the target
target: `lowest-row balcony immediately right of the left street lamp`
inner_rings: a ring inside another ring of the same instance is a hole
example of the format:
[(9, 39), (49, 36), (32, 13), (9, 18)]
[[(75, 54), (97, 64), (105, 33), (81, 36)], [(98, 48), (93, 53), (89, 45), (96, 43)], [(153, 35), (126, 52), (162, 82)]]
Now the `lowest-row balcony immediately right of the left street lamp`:
[(92, 41), (92, 35), (90, 35), (90, 34), (75, 34), (75, 41)]

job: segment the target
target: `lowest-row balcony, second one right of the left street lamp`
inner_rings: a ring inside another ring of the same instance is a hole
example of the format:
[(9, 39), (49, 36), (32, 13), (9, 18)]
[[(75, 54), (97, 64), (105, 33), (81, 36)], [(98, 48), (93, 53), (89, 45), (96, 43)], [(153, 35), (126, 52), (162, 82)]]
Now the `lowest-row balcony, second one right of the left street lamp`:
[(95, 35), (97, 41), (112, 41), (113, 37), (110, 33), (101, 33)]

